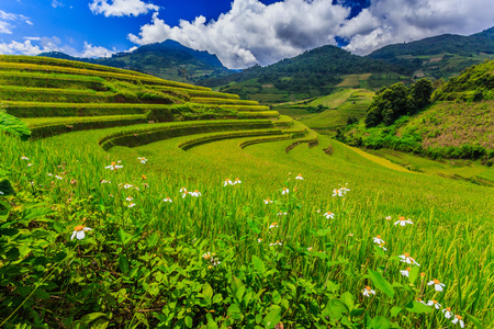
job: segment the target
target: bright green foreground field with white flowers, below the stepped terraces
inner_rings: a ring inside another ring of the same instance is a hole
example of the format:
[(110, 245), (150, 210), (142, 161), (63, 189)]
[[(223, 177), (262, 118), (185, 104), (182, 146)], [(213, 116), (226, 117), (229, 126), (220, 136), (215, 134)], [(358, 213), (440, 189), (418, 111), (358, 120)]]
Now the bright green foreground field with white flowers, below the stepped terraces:
[[(23, 239), (43, 235), (42, 246), (16, 247), (21, 254), (66, 253), (23, 268), (52, 283), (36, 294), (66, 302), (11, 304), (9, 321), (49, 309), (48, 322), (70, 314), (66, 326), (439, 328), (452, 325), (449, 307), (467, 327), (494, 324), (483, 293), (494, 287), (492, 189), (394, 171), (324, 136), (288, 154), (290, 141), (240, 149), (242, 138), (183, 151), (188, 137), (104, 152), (98, 140), (110, 132), (1, 136), (1, 166), (18, 190), (3, 225), (32, 220)], [(106, 168), (112, 161), (122, 168)], [(70, 240), (78, 225), (92, 230)], [(435, 279), (444, 291), (427, 284)], [(91, 296), (103, 287), (112, 298)]]

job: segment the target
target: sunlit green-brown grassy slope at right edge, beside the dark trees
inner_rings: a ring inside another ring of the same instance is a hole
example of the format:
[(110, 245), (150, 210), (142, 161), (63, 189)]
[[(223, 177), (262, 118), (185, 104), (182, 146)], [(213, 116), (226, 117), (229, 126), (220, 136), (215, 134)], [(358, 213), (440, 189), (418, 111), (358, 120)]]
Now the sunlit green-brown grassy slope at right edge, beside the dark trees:
[(392, 148), (423, 156), (456, 159), (494, 158), (494, 61), (465, 69), (437, 89), (436, 100), (420, 113), (402, 116), (391, 126), (346, 128), (341, 140), (372, 149)]

